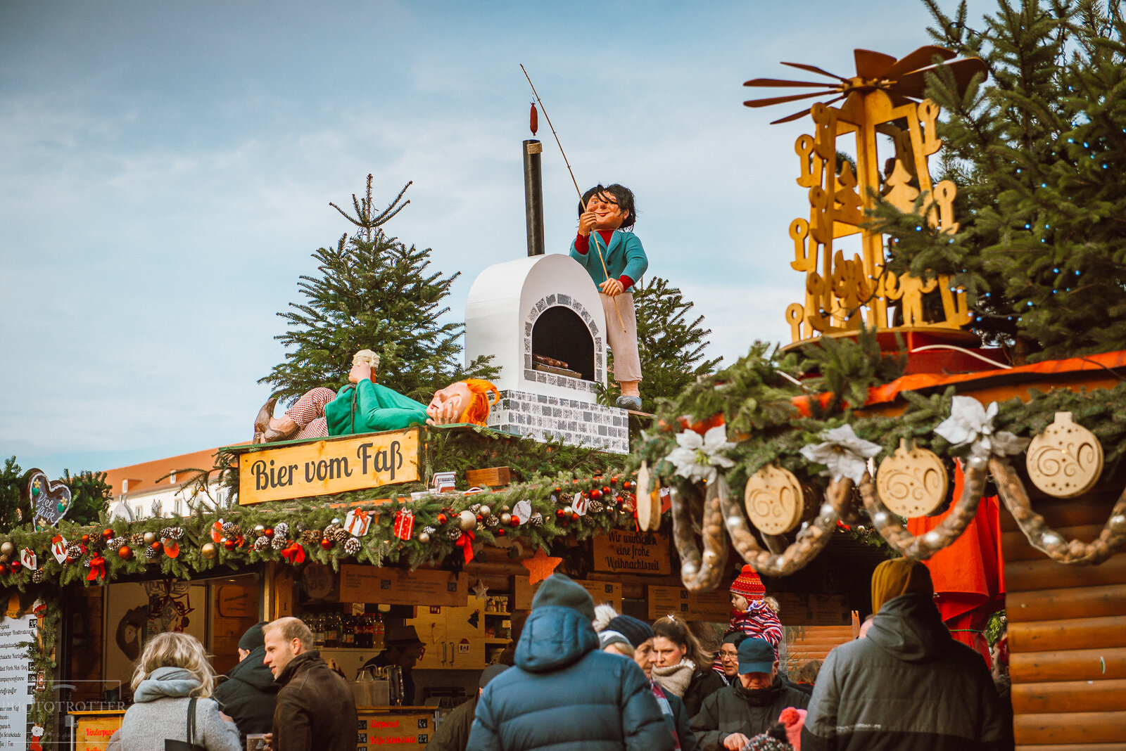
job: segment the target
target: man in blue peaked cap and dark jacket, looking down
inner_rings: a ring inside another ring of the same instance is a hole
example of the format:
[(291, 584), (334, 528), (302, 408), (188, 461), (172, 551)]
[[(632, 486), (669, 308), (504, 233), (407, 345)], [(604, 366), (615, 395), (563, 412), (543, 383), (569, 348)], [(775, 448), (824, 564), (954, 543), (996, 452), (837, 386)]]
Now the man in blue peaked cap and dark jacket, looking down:
[(778, 675), (774, 645), (748, 636), (739, 644), (739, 679), (704, 699), (692, 730), (700, 751), (740, 751), (778, 722), (783, 709), (804, 709), (808, 704), (808, 695)]

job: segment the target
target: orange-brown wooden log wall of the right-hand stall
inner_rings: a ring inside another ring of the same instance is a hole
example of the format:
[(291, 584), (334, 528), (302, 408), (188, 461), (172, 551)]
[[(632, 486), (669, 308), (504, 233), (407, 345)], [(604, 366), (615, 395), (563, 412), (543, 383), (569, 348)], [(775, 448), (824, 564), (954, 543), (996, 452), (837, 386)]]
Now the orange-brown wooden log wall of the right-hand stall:
[[(1033, 507), (1087, 542), (1121, 491), (1100, 488)], [(1001, 530), (1017, 749), (1126, 751), (1126, 553), (1064, 565), (1033, 548), (1008, 512)]]

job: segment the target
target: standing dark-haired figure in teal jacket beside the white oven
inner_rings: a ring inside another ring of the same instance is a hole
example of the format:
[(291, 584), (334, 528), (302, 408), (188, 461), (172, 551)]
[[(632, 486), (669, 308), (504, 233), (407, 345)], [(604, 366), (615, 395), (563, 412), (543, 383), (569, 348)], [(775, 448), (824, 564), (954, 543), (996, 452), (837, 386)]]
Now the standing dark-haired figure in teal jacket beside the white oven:
[[(618, 184), (595, 186), (579, 203), (579, 233), (571, 243), (571, 257), (583, 265), (602, 299), (606, 338), (614, 352), (614, 380), (622, 388), (616, 406), (640, 410), (641, 358), (631, 290), (649, 269), (649, 259), (631, 229), (635, 219), (633, 191)], [(593, 243), (591, 232), (596, 233)]]

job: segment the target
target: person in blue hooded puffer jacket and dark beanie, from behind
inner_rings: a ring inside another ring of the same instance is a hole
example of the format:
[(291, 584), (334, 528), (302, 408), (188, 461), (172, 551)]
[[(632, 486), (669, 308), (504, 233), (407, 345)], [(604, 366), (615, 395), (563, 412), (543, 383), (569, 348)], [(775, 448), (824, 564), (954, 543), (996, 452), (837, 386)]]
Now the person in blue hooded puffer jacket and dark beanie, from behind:
[(547, 578), (516, 648), (516, 666), (477, 702), (468, 751), (672, 751), (645, 673), (598, 649), (595, 601)]

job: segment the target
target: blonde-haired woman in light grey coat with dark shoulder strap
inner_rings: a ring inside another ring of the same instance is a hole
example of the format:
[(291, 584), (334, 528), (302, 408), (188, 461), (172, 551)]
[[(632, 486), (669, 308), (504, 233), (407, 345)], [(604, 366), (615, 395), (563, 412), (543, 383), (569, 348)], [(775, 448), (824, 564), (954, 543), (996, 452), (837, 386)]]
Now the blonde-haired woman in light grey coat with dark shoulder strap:
[(164, 741), (240, 751), (239, 729), (209, 698), (215, 673), (195, 636), (170, 632), (149, 640), (131, 686), (134, 704), (107, 751), (164, 751)]

